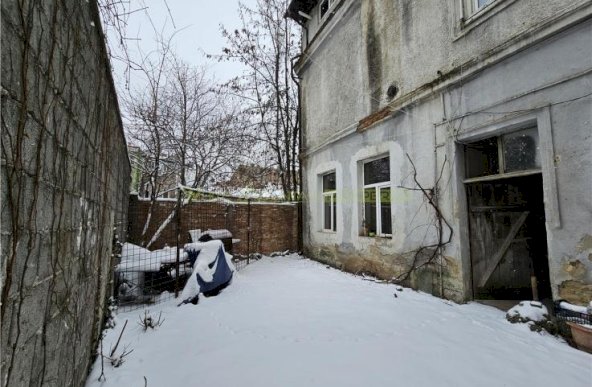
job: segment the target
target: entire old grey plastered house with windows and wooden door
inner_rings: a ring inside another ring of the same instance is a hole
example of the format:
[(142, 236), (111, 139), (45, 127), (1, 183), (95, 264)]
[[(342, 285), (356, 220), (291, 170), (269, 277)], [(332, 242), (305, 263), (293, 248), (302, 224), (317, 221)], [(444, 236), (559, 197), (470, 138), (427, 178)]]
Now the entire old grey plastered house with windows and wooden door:
[(591, 1), (293, 0), (287, 16), (307, 254), (457, 301), (592, 300)]

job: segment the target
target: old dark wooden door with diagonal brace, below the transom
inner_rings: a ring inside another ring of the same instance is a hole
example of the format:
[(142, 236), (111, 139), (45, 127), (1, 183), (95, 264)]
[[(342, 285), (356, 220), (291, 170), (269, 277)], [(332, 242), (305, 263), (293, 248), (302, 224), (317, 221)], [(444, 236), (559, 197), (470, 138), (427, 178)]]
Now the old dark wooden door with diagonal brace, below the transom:
[(467, 197), (474, 298), (531, 299), (531, 276), (548, 283), (540, 175), (467, 184)]

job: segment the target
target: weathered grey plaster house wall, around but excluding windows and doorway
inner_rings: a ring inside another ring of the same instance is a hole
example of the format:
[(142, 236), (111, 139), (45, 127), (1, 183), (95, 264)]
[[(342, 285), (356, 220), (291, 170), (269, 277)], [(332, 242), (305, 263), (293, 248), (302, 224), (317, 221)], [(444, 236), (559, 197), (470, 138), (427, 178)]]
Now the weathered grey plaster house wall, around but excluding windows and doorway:
[[(439, 208), (453, 226), (441, 261), (410, 282), (434, 294), (470, 299), (464, 161), (458, 144), (536, 125), (553, 296), (590, 300), (592, 261), (586, 241), (591, 235), (592, 175), (585, 171), (592, 162), (592, 3), (498, 1), (463, 24), (459, 1), (442, 6), (440, 1), (344, 0), (318, 36), (311, 37), (299, 67), (305, 248), (345, 270), (389, 279), (404, 272), (410, 253), (437, 237), (434, 213), (421, 193), (400, 188), (417, 188), (409, 154), (420, 184), (437, 188)], [(346, 63), (334, 61), (344, 53)], [(344, 73), (348, 62), (362, 71)], [(319, 74), (332, 66), (340, 78), (321, 84)], [(399, 94), (389, 101), (385, 92), (393, 83)], [(339, 124), (342, 100), (358, 105)], [(368, 124), (358, 123), (377, 110), (380, 114), (370, 116)], [(359, 166), (364, 159), (386, 154), (394, 196), (393, 237), (362, 237)], [(337, 232), (327, 233), (320, 231), (319, 176), (333, 170), (342, 201)]]

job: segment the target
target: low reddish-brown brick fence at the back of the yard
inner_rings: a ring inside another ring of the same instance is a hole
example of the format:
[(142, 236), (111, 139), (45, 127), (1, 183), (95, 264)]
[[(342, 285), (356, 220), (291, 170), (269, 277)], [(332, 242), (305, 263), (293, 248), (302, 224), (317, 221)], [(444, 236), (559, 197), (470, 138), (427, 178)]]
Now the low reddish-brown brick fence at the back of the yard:
[[(158, 228), (174, 212), (176, 205), (176, 201), (171, 199), (157, 201), (147, 231), (142, 236), (150, 201), (132, 195), (129, 203), (128, 240), (138, 245), (145, 245), (152, 239)], [(298, 212), (297, 203), (194, 201), (183, 206), (179, 226), (177, 227), (174, 219), (170, 221), (149, 249), (155, 250), (165, 245), (174, 246), (177, 229), (182, 244), (190, 241), (189, 230), (227, 229), (234, 239), (240, 239), (240, 242), (233, 246), (235, 254), (298, 251)]]

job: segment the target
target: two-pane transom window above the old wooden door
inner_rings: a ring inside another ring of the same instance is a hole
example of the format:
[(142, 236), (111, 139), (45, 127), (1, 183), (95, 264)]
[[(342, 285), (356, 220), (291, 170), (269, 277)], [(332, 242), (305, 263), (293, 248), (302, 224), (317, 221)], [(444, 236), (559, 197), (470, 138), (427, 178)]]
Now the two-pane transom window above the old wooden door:
[(465, 145), (468, 178), (539, 171), (539, 135), (536, 128), (519, 130)]

